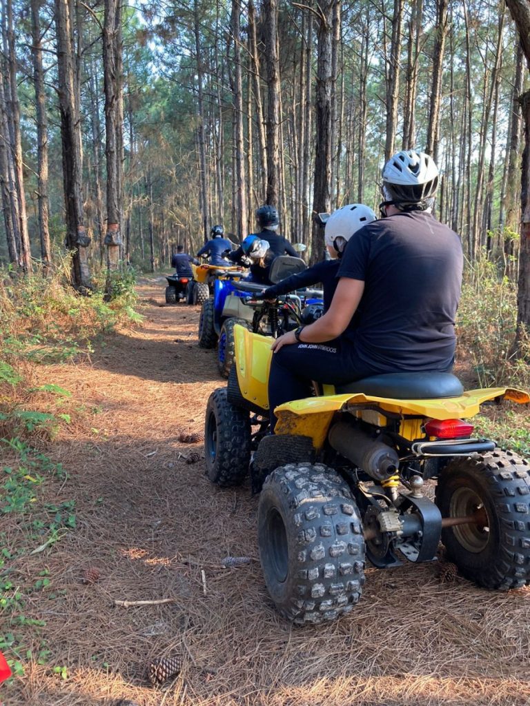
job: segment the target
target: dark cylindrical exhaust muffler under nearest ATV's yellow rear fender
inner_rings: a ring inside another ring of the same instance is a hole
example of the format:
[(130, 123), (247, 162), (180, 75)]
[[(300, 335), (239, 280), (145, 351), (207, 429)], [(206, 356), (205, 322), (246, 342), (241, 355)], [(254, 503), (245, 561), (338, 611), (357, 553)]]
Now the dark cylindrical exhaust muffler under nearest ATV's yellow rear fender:
[(394, 475), (399, 465), (394, 448), (344, 421), (331, 427), (328, 441), (341, 456), (378, 481)]

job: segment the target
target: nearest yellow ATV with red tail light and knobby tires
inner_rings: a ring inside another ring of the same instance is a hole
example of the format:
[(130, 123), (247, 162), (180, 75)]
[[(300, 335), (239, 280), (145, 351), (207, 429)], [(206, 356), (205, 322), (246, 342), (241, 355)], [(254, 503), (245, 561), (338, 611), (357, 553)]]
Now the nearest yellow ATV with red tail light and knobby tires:
[[(261, 567), (278, 611), (320, 623), (359, 601), (365, 560), (448, 561), (478, 586), (530, 582), (529, 465), (469, 421), (485, 402), (528, 403), (512, 388), (464, 392), (449, 373), (394, 373), (276, 409), (266, 433), (271, 339), (235, 327), (228, 388), (206, 408), (206, 473), (219, 486), (251, 471)], [(251, 465), (252, 456), (252, 465)]]

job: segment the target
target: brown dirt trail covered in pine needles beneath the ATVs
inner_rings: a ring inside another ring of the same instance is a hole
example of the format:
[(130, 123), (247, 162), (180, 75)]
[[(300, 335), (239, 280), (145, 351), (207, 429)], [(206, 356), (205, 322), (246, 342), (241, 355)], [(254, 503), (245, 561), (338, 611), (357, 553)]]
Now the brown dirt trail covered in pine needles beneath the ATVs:
[[(69, 678), (34, 666), (6, 704), (528, 706), (528, 590), (485, 592), (408, 564), (368, 568), (360, 604), (336, 623), (295, 629), (276, 614), (257, 561), (257, 498), (212, 486), (204, 460), (186, 462), (202, 445), (177, 439), (202, 430), (224, 381), (196, 345), (199, 309), (159, 306), (163, 291), (164, 280), (140, 285), (143, 327), (108, 337), (90, 364), (42, 372), (86, 409), (49, 448), (71, 473), (55, 499), (75, 499), (78, 528), (25, 566), (50, 570), (57, 595), (32, 617)], [(252, 561), (226, 569), (227, 556)], [(100, 579), (86, 585), (89, 567)], [(166, 693), (144, 669), (170, 654), (184, 668)]]

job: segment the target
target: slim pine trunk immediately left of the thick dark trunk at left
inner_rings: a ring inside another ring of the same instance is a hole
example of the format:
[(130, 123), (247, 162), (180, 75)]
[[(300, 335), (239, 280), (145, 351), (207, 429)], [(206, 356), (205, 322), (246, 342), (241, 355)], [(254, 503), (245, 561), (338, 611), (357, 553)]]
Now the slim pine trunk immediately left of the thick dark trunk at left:
[(42, 70), (42, 40), (40, 37), (41, 0), (31, 0), (33, 37), (33, 80), (35, 83), (35, 112), (37, 116), (37, 203), (39, 211), (40, 258), (46, 275), (52, 261), (49, 242), (48, 204), (48, 120), (46, 114), (44, 72)]

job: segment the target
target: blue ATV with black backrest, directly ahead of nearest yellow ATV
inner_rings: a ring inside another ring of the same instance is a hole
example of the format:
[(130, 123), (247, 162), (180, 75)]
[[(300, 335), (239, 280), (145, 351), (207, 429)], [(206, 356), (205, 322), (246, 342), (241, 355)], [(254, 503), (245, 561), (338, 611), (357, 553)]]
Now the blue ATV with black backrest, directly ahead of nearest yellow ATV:
[[(276, 284), (302, 270), (305, 270), (305, 262), (300, 258), (290, 256), (277, 257), (269, 273), (271, 282)], [(254, 333), (272, 335), (276, 337), (278, 333), (283, 333), (289, 329), (288, 321), (293, 323), (294, 328), (298, 325), (291, 316), (289, 309), (283, 311), (283, 316), (273, 321), (269, 321), (267, 309), (264, 301), (257, 301), (249, 297), (252, 293), (258, 294), (265, 285), (249, 282), (249, 280), (217, 280), (213, 289), (213, 299), (204, 302), (199, 319), (199, 346), (201, 348), (215, 348), (217, 345), (217, 364), (223, 378), (228, 378), (232, 361), (234, 359), (234, 326), (240, 324), (253, 330)], [(301, 296), (300, 296), (301, 295)], [(318, 318), (318, 311), (322, 313), (322, 299), (307, 299), (304, 294), (298, 293), (296, 297), (300, 301), (300, 308), (311, 303), (314, 309), (315, 318)], [(310, 307), (308, 307), (310, 309)], [(308, 313), (310, 313), (308, 311)], [(276, 323), (275, 323), (276, 322)], [(278, 328), (279, 327), (279, 328)]]

